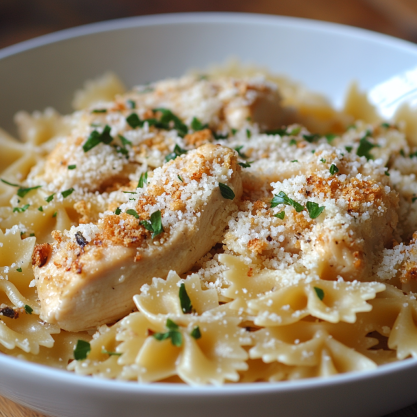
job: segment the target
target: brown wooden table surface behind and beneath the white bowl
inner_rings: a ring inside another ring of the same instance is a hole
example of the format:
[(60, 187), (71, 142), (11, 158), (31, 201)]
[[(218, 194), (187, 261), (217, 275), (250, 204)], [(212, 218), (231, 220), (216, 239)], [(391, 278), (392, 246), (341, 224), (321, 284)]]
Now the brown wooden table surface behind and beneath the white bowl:
[[(407, 3), (404, 0), (395, 2), (399, 11), (400, 6)], [(393, 13), (388, 3), (392, 4), (391, 0), (0, 0), (0, 48), (46, 33), (102, 20), (196, 11), (304, 17), (357, 26), (417, 42), (417, 30), (414, 31), (409, 22), (402, 22), (401, 13)], [(401, 11), (408, 18), (412, 15), (404, 7)], [(385, 417), (413, 416), (417, 417), (417, 404)], [(0, 397), (0, 417), (45, 416)]]

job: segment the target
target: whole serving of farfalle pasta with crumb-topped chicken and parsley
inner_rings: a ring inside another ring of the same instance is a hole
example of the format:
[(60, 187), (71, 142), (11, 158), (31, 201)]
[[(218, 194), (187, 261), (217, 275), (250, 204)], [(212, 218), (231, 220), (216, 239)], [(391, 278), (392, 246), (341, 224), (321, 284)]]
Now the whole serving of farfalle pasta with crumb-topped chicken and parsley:
[(0, 352), (85, 376), (285, 381), (417, 357), (417, 132), (231, 64), (0, 130)]

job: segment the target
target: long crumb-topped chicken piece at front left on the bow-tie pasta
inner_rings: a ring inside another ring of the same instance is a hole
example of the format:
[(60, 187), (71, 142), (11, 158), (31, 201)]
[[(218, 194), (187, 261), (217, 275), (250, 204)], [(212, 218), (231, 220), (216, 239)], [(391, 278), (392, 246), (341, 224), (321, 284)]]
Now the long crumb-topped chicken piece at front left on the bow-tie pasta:
[(236, 209), (237, 154), (204, 145), (153, 171), (135, 193), (98, 223), (56, 231), (53, 244), (35, 248), (43, 320), (68, 331), (111, 323), (134, 309), (132, 297), (153, 277), (189, 270)]

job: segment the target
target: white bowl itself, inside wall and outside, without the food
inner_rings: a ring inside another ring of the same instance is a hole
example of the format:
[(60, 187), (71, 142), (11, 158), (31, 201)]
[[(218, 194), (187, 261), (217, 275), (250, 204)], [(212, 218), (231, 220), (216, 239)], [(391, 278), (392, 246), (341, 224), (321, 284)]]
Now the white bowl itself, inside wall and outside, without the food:
[[(74, 90), (107, 70), (133, 86), (232, 55), (336, 105), (353, 79), (369, 90), (417, 63), (415, 45), (323, 22), (235, 13), (121, 19), (0, 51), (0, 126), (13, 131), (22, 109), (70, 112)], [(378, 416), (417, 401), (416, 385), (414, 359), (329, 379), (195, 388), (93, 379), (0, 354), (0, 395), (54, 416)]]

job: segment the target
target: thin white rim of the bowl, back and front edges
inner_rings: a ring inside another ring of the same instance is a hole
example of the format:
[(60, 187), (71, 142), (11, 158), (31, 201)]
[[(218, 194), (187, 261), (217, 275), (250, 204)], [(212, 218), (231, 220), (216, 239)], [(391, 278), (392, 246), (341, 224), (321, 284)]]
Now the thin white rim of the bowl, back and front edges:
[[(25, 51), (34, 50), (50, 44), (68, 41), (83, 36), (111, 32), (117, 30), (131, 29), (136, 27), (156, 26), (156, 25), (184, 25), (184, 24), (216, 24), (216, 23), (235, 23), (235, 24), (269, 24), (282, 27), (297, 29), (307, 29), (315, 32), (334, 33), (341, 36), (359, 38), (375, 43), (383, 43), (395, 49), (404, 50), (417, 56), (417, 45), (392, 37), (390, 35), (373, 32), (367, 29), (347, 26), (339, 23), (332, 23), (306, 18), (266, 15), (256, 13), (240, 12), (190, 12), (190, 13), (167, 13), (145, 16), (133, 16), (120, 19), (107, 20), (103, 22), (90, 23), (69, 29), (60, 30), (50, 34), (42, 35), (29, 39), (6, 48), (0, 49), (0, 63), (2, 59), (11, 57)], [(16, 357), (8, 356), (0, 352), (0, 369), (15, 371), (16, 375), (41, 376), (49, 382), (59, 384), (65, 383), (67, 386), (77, 387), (78, 389), (100, 390), (107, 392), (119, 392), (129, 395), (130, 393), (141, 394), (164, 394), (191, 396), (230, 396), (257, 393), (284, 393), (299, 390), (315, 390), (330, 385), (345, 385), (358, 381), (371, 381), (382, 376), (389, 377), (400, 371), (416, 369), (417, 358), (408, 358), (399, 362), (389, 363), (378, 366), (370, 371), (355, 371), (345, 374), (338, 374), (328, 378), (310, 378), (296, 381), (279, 381), (277, 383), (257, 382), (224, 384), (221, 386), (190, 386), (187, 384), (171, 383), (152, 383), (144, 384), (137, 381), (108, 380), (97, 377), (86, 377), (74, 374), (62, 369), (48, 367), (21, 360)], [(94, 381), (92, 383), (92, 381)]]

